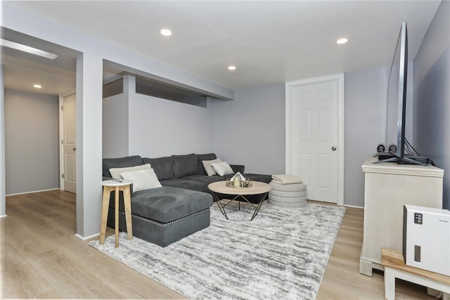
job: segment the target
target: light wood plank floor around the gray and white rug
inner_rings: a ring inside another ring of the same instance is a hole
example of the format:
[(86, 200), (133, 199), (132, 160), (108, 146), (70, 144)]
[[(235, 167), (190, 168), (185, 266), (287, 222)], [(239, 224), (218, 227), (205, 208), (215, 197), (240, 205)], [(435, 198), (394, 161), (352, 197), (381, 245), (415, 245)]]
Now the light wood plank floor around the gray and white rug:
[[(71, 193), (8, 196), (6, 214), (0, 219), (2, 299), (183, 298), (75, 237)], [(347, 208), (317, 299), (384, 299), (383, 273), (359, 274), (362, 235), (363, 209)], [(425, 287), (401, 280), (396, 296), (435, 299)]]

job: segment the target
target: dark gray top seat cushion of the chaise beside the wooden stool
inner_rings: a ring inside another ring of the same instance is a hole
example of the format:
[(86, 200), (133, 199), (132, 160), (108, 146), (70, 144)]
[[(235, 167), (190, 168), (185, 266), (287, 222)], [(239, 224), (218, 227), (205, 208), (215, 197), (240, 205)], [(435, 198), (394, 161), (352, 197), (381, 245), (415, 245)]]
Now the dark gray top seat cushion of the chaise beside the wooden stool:
[[(146, 219), (169, 223), (198, 213), (212, 206), (212, 196), (207, 193), (181, 188), (153, 188), (134, 193), (131, 213)], [(114, 201), (110, 201), (114, 208)], [(123, 210), (123, 202), (120, 202)]]

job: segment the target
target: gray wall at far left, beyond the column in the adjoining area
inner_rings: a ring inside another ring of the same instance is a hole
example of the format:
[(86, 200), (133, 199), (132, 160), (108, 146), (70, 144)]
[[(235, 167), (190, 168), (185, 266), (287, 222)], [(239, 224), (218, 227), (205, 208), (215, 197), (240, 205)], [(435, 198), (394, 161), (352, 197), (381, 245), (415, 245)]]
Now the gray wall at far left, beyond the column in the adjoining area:
[(6, 195), (59, 188), (58, 96), (5, 90)]

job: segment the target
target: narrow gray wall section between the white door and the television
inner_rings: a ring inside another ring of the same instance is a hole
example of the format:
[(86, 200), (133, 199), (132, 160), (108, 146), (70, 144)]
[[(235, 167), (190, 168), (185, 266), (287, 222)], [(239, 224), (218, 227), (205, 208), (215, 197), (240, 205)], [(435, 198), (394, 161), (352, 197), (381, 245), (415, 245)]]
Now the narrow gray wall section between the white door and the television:
[(345, 74), (344, 203), (364, 207), (361, 164), (386, 138), (387, 68)]

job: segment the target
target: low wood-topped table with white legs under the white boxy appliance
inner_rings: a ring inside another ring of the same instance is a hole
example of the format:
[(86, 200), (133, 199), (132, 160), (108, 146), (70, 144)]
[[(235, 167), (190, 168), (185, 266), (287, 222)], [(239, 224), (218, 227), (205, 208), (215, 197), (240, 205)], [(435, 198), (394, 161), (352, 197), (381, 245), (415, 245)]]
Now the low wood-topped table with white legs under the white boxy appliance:
[(385, 299), (395, 299), (395, 278), (437, 289), (442, 292), (442, 300), (450, 299), (449, 276), (406, 266), (398, 250), (381, 248), (381, 259), (385, 267)]

